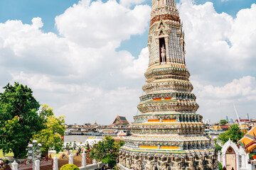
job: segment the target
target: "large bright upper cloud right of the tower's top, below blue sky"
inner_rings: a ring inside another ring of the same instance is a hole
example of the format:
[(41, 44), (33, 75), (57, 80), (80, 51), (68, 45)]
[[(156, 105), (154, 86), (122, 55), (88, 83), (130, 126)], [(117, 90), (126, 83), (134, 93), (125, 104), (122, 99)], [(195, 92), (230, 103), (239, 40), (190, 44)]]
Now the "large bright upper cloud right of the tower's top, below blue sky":
[(178, 8), (186, 34), (186, 63), (193, 76), (206, 84), (221, 84), (256, 72), (255, 4), (236, 18), (217, 13), (211, 2), (196, 5), (186, 0)]

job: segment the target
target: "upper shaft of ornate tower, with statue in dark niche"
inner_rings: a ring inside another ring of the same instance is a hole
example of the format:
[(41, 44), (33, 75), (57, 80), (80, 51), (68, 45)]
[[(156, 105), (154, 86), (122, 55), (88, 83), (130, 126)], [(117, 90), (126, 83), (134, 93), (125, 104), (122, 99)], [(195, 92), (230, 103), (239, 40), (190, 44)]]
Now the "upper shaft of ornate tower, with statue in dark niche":
[(185, 64), (184, 33), (175, 0), (152, 0), (148, 47), (149, 66)]

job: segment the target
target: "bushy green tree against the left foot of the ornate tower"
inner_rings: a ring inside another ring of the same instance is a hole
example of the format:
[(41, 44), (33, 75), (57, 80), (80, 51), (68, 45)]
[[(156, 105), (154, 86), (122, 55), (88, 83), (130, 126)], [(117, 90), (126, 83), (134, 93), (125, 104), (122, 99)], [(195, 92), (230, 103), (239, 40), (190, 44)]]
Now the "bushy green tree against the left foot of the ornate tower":
[(90, 158), (101, 161), (105, 164), (109, 164), (112, 168), (117, 163), (117, 157), (120, 147), (124, 145), (124, 140), (115, 141), (112, 137), (105, 137), (98, 142), (97, 145), (92, 147), (90, 152)]

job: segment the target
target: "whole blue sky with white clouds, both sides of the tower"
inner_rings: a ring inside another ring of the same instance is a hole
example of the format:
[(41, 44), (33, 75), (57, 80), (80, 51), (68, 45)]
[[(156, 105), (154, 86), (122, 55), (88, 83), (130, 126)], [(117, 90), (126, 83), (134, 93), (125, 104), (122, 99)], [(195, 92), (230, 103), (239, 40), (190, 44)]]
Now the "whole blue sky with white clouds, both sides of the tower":
[[(256, 4), (177, 1), (203, 119), (255, 115)], [(148, 65), (151, 2), (0, 1), (0, 86), (18, 81), (66, 123), (132, 122)], [(0, 92), (3, 89), (0, 89)]]

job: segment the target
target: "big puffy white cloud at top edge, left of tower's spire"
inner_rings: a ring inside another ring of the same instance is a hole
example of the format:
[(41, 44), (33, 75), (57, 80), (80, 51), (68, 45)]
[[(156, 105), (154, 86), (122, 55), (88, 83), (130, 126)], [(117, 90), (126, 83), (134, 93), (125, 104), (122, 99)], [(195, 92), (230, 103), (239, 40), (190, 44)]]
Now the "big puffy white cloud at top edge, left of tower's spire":
[(82, 2), (55, 18), (60, 35), (77, 44), (119, 47), (122, 40), (148, 28), (149, 6), (135, 6), (131, 10), (117, 1), (93, 1), (90, 6)]

